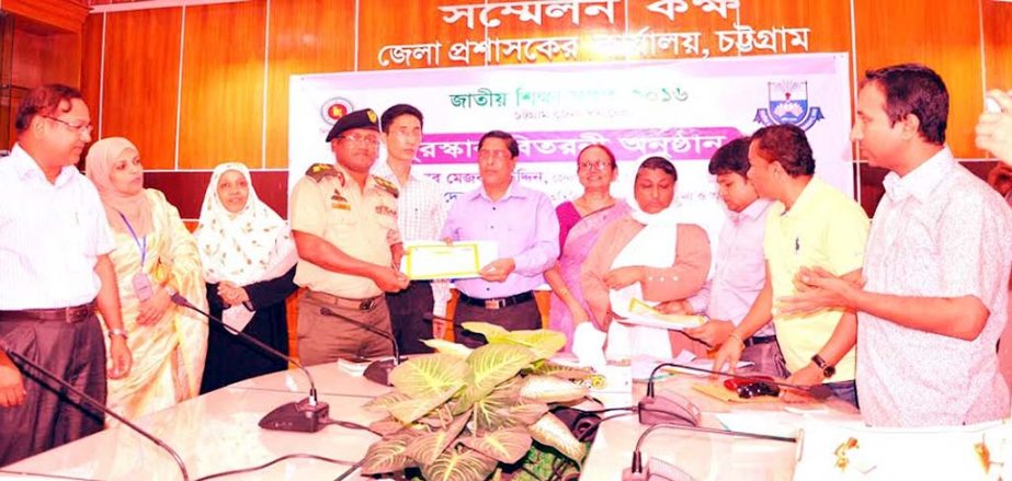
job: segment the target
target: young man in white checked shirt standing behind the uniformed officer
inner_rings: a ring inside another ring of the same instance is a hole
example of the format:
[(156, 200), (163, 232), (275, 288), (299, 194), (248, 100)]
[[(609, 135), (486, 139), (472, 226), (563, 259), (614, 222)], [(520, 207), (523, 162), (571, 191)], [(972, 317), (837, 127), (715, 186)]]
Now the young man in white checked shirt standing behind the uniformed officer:
[[(397, 104), (379, 116), (386, 161), (376, 162), (373, 174), (394, 183), (400, 190), (397, 199), (397, 227), (407, 241), (432, 241), (440, 238), (446, 220), (443, 191), (432, 179), (412, 172), (411, 165), (422, 145), (421, 111), (412, 105)], [(450, 284), (445, 280), (414, 280), (400, 293), (387, 294), (394, 336), (405, 354), (432, 352), (422, 341), (432, 339), (432, 323), (422, 317), (432, 312), (446, 314)]]

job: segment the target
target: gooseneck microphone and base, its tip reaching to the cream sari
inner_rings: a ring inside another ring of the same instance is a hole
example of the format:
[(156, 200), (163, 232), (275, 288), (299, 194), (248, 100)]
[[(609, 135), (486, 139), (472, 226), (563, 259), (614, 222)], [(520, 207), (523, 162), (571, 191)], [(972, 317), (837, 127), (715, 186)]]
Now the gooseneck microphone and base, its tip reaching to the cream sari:
[(260, 420), (260, 427), (264, 430), (274, 430), (274, 431), (295, 431), (299, 433), (316, 433), (323, 428), (323, 426), (331, 423), (328, 415), (330, 414), (330, 406), (322, 401), (319, 401), (316, 393), (316, 382), (312, 381), (312, 375), (309, 374), (309, 370), (306, 369), (298, 360), (295, 360), (291, 356), (278, 352), (277, 350), (264, 344), (257, 337), (253, 337), (242, 331), (239, 331), (231, 325), (225, 323), (225, 321), (211, 316), (207, 312), (204, 312), (198, 307), (191, 304), (183, 297), (181, 294), (177, 293), (172, 295), (172, 302), (177, 306), (184, 307), (195, 312), (200, 312), (208, 320), (214, 321), (218, 325), (225, 328), (228, 332), (236, 334), (242, 341), (250, 343), (257, 347), (260, 347), (262, 351), (285, 359), (302, 369), (303, 374), (306, 375), (306, 378), (309, 379), (309, 397), (297, 402), (289, 402), (282, 404), (275, 410), (268, 413)]

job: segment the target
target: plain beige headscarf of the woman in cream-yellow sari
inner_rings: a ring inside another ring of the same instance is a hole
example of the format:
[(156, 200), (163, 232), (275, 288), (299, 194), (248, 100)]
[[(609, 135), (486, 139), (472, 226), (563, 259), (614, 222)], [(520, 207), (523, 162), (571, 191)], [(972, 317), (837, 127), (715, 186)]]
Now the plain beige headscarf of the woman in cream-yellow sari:
[(123, 222), (123, 216), (130, 222), (134, 232), (139, 236), (147, 236), (151, 232), (153, 218), (151, 215), (151, 202), (148, 201), (144, 190), (136, 194), (125, 194), (116, 190), (110, 181), (110, 171), (113, 164), (124, 156), (139, 152), (137, 147), (123, 137), (107, 137), (96, 141), (88, 151), (88, 158), (84, 159), (84, 174), (95, 184), (99, 190), (99, 196), (102, 197), (102, 205), (105, 207), (105, 217), (109, 218), (109, 225), (113, 229), (129, 232)]

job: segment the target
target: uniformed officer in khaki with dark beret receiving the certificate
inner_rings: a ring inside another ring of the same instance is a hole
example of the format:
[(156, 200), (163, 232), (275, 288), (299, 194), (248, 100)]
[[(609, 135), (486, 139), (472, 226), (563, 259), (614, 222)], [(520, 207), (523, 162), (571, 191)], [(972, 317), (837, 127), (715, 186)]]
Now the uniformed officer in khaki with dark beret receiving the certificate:
[(384, 293), (408, 287), (398, 271), (403, 252), (399, 191), (369, 174), (379, 154), (377, 121), (371, 108), (338, 119), (327, 135), (336, 162), (314, 164), (292, 191), (289, 219), (299, 256), (295, 283), (308, 288), (298, 302), (305, 365), (394, 354), (385, 337), (321, 313), (327, 308), (389, 332)]

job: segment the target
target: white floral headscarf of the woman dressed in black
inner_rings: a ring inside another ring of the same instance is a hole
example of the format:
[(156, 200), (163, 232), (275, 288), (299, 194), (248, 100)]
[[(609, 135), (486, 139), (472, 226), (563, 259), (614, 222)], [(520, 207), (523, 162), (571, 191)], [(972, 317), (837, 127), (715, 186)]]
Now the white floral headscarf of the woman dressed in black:
[[(218, 197), (218, 182), (228, 171), (246, 177), (250, 194), (246, 206), (231, 214)], [(284, 219), (257, 196), (249, 169), (238, 162), (215, 168), (194, 232), (209, 283), (229, 280), (245, 286), (283, 275), (295, 261), (295, 242)]]

